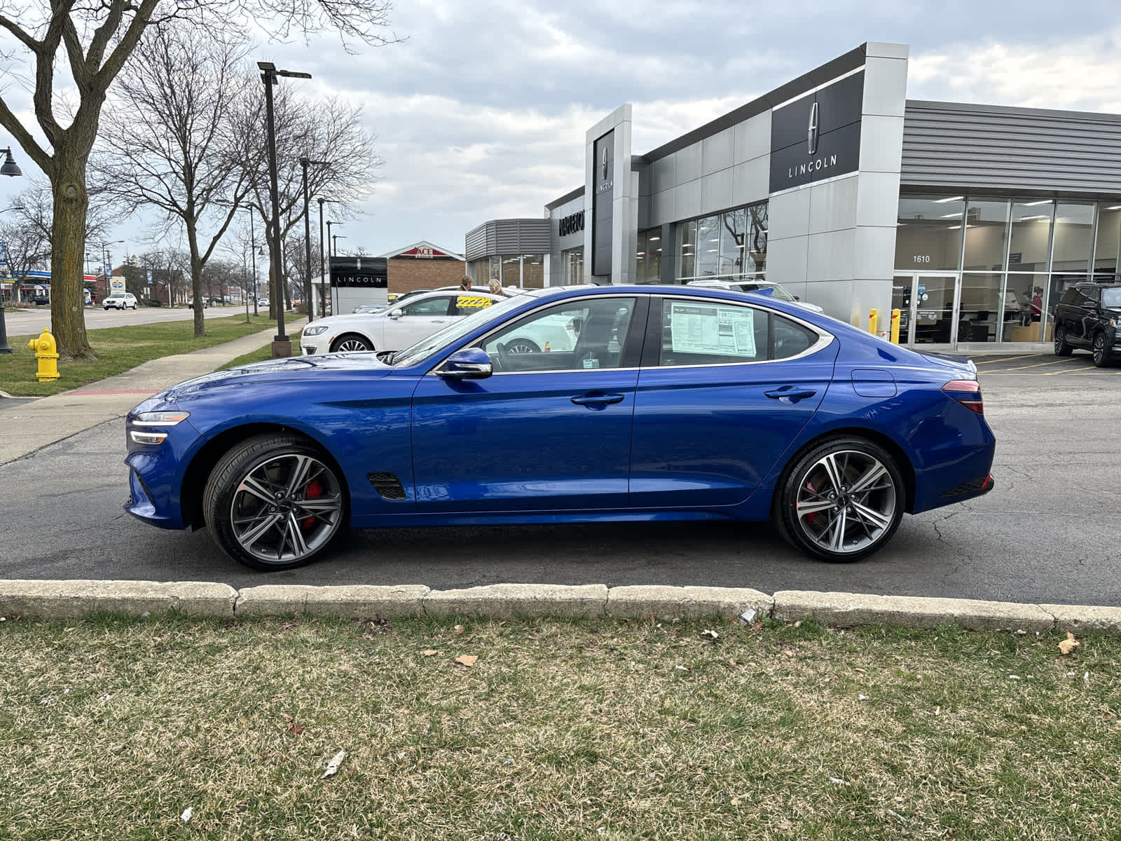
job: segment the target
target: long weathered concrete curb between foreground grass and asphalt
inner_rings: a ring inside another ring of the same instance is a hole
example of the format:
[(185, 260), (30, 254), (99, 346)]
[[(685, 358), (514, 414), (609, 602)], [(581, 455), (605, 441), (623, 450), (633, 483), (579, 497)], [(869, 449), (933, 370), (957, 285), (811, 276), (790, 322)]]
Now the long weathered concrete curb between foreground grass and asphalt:
[(970, 630), (1097, 631), (1121, 635), (1121, 607), (1019, 604), (973, 599), (926, 599), (747, 588), (614, 586), (605, 584), (490, 584), (432, 590), (421, 584), (309, 586), (155, 581), (0, 581), (0, 616), (78, 619), (93, 613), (145, 617), (284, 616), (558, 617), (569, 619), (719, 619), (753, 610), (759, 619), (854, 627), (887, 625)]

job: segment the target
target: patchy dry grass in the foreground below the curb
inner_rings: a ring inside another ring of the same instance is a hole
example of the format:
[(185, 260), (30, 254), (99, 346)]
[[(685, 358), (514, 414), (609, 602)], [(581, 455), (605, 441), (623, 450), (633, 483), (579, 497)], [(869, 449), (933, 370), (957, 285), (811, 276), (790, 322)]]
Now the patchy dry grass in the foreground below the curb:
[(1041, 841), (1121, 828), (1118, 638), (1062, 656), (1054, 635), (953, 628), (461, 621), (0, 622), (0, 834)]

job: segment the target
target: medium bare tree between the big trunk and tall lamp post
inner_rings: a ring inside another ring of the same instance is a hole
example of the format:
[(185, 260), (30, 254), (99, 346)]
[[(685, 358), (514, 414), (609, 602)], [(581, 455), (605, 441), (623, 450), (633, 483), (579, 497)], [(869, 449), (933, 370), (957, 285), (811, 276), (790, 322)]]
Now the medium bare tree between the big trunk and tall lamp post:
[(196, 336), (206, 334), (203, 269), (263, 165), (258, 135), (233, 122), (250, 98), (245, 55), (244, 44), (223, 35), (198, 43), (183, 21), (149, 27), (110, 99), (91, 159), (94, 181), (130, 211), (157, 207), (186, 232)]

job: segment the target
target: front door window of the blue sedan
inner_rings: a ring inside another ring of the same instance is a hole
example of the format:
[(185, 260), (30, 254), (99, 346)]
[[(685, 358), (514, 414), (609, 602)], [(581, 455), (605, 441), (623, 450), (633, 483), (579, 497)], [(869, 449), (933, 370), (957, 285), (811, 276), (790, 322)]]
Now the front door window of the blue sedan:
[(595, 297), (532, 313), (479, 346), (495, 371), (618, 368), (634, 314), (634, 298)]

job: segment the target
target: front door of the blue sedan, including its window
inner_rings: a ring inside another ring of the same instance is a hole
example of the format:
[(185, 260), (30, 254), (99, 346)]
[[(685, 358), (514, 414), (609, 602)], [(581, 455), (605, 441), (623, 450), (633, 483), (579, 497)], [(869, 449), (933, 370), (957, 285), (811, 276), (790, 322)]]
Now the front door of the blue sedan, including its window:
[[(417, 509), (626, 507), (646, 305), (604, 294), (543, 305), (475, 343), (491, 377), (448, 379), (438, 366), (424, 376), (413, 397)], [(552, 350), (574, 321), (572, 346)]]

